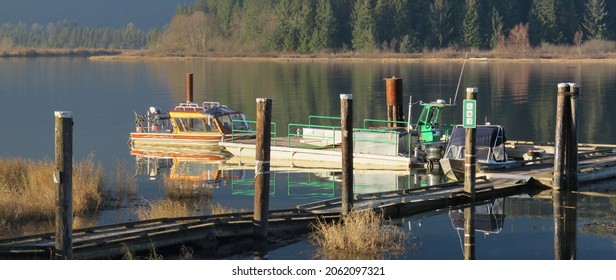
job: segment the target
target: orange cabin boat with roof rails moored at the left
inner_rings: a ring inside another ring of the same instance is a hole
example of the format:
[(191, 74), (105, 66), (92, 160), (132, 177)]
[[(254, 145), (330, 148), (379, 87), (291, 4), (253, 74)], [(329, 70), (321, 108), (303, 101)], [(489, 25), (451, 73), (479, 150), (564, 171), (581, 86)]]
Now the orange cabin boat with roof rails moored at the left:
[(219, 102), (183, 102), (168, 112), (150, 107), (135, 112), (131, 153), (199, 154), (221, 151), (219, 142), (254, 138), (246, 116)]

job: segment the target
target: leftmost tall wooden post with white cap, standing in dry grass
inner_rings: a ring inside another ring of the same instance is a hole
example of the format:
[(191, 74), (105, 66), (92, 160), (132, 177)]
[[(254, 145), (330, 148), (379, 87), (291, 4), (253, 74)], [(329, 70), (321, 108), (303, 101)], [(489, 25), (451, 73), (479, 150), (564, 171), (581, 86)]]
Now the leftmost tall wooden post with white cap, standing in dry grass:
[(56, 111), (55, 165), (56, 187), (55, 257), (73, 259), (73, 116)]

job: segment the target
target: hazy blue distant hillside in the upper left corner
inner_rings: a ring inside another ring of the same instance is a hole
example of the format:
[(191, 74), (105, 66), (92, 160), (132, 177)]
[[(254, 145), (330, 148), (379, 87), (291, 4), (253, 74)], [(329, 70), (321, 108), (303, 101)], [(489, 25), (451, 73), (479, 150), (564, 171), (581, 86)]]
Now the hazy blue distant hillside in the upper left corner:
[(0, 0), (0, 24), (19, 21), (55, 23), (76, 20), (81, 27), (120, 28), (128, 23), (142, 30), (162, 30), (179, 4), (194, 0)]

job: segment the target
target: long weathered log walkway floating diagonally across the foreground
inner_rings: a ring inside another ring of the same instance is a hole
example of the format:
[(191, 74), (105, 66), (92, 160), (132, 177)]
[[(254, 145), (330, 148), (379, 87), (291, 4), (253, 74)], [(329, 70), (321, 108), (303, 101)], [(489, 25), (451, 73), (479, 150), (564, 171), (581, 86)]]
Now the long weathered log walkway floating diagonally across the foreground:
[[(476, 201), (524, 192), (535, 186), (530, 177), (503, 176), (478, 178)], [(424, 213), (470, 202), (463, 191), (463, 182), (356, 195), (357, 210), (378, 209), (386, 217)], [(306, 233), (318, 220), (341, 217), (340, 199), (300, 205), (297, 209), (270, 211), (268, 235)], [(116, 225), (97, 226), (73, 231), (75, 259), (117, 258), (130, 252), (153, 248), (197, 244), (216, 250), (230, 240), (250, 238), (253, 234), (253, 213), (234, 213), (199, 217), (164, 218)], [(50, 259), (54, 252), (54, 234), (46, 233), (0, 240), (0, 258)], [(245, 249), (246, 246), (243, 246)]]

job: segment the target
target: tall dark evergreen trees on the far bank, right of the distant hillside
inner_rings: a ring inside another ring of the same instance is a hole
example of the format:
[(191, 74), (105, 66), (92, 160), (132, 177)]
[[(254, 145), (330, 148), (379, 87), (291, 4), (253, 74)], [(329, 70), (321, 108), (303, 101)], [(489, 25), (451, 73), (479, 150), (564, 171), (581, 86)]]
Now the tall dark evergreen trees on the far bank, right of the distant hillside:
[[(574, 45), (576, 33), (616, 38), (616, 1), (605, 0), (197, 0), (178, 7), (175, 20), (196, 13), (209, 50), (408, 53), (522, 39)], [(182, 32), (170, 27), (166, 33)]]

